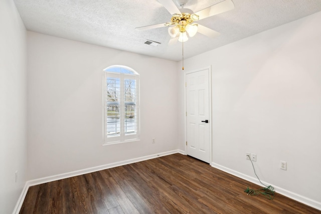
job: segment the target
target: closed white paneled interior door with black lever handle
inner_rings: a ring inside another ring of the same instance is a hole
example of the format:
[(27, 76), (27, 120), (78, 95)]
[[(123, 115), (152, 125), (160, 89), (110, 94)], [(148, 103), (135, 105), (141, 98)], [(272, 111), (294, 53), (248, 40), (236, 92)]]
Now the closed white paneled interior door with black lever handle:
[(186, 74), (187, 154), (210, 162), (209, 69)]

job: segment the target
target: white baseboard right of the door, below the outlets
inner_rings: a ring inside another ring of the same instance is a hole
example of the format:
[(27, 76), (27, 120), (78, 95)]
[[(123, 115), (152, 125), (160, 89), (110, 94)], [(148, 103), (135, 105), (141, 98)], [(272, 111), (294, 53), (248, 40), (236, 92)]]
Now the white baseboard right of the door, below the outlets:
[[(222, 171), (225, 171), (225, 172), (227, 172), (227, 173), (229, 173), (229, 174), (235, 175), (235, 176), (237, 176), (237, 177), (239, 177), (239, 178), (242, 178), (242, 179), (244, 179), (244, 180), (247, 180), (247, 181), (250, 181), (250, 182), (252, 182), (252, 183), (255, 183), (255, 184), (259, 185), (259, 186), (263, 186), (263, 185), (257, 180), (257, 178), (255, 178), (255, 177), (248, 176), (248, 175), (246, 175), (246, 174), (243, 174), (243, 173), (241, 173), (241, 172), (235, 171), (235, 170), (233, 170), (233, 169), (227, 168), (227, 167), (225, 167), (225, 166), (222, 166), (222, 165), (217, 164), (217, 163), (214, 163), (214, 162), (211, 163), (211, 166), (214, 167), (214, 168), (220, 169), (220, 170), (222, 170)], [(266, 184), (266, 185), (271, 185), (271, 186), (273, 186), (274, 189), (275, 189), (275, 191), (276, 191), (277, 193), (279, 193), (279, 194), (282, 194), (282, 195), (284, 195), (284, 196), (286, 196), (286, 197), (289, 197), (289, 198), (291, 198), (291, 199), (293, 199), (293, 200), (296, 200), (296, 201), (298, 201), (298, 202), (304, 203), (304, 204), (306, 204), (306, 205), (308, 205), (308, 206), (311, 206), (311, 207), (313, 207), (313, 208), (316, 208), (316, 209), (321, 210), (321, 202), (319, 202), (319, 201), (313, 200), (313, 199), (311, 199), (311, 198), (308, 198), (308, 197), (305, 197), (305, 196), (303, 196), (303, 195), (297, 194), (297, 193), (295, 193), (295, 192), (289, 191), (289, 190), (287, 190), (287, 189), (281, 188), (281, 187), (279, 187), (279, 186), (275, 186), (275, 185), (270, 184), (270, 183), (268, 183), (268, 182), (265, 182), (265, 181), (263, 181), (263, 180), (261, 180), (261, 181), (262, 181), (262, 183), (264, 183), (264, 184)]]

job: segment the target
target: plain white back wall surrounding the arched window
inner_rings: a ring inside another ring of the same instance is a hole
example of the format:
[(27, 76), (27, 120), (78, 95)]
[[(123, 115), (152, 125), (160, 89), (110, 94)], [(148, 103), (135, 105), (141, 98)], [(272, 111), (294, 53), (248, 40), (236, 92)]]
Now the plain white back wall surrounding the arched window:
[[(28, 179), (177, 149), (176, 62), (34, 32), (28, 45)], [(140, 74), (141, 136), (103, 146), (102, 70), (111, 65)]]

